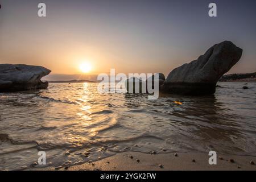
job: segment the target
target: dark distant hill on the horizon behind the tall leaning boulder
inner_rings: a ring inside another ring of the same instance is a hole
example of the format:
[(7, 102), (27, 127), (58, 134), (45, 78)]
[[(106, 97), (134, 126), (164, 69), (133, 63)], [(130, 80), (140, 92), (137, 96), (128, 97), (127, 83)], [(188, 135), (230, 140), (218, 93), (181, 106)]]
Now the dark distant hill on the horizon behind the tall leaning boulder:
[(255, 73), (235, 73), (224, 75), (218, 80), (220, 82), (256, 82)]

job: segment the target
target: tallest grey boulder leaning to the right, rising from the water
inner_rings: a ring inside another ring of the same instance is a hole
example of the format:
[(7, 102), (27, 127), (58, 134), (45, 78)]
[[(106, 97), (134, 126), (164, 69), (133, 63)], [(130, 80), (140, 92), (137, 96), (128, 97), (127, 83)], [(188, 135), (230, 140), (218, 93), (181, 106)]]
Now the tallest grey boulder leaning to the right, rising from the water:
[(242, 56), (242, 49), (224, 41), (209, 48), (189, 64), (174, 69), (163, 84), (167, 93), (185, 95), (213, 94), (216, 83)]

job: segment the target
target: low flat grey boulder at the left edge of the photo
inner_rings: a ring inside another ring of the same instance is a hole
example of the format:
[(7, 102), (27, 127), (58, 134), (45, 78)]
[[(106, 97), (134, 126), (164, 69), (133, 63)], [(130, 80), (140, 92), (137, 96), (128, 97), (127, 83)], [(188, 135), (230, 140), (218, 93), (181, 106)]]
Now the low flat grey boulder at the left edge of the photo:
[(48, 82), (40, 79), (51, 71), (24, 64), (0, 64), (0, 92), (46, 89)]

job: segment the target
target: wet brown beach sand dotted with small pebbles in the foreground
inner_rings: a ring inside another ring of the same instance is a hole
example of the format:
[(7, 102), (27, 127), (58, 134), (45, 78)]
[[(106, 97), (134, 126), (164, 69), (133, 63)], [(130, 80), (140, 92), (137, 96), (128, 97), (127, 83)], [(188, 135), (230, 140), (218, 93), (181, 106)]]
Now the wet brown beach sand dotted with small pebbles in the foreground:
[[(132, 156), (132, 157), (131, 157)], [(158, 170), (250, 170), (255, 171), (255, 156), (218, 155), (217, 165), (209, 165), (207, 153), (177, 153), (172, 154), (142, 154), (139, 152), (123, 152), (101, 159), (96, 162), (71, 166), (68, 169), (59, 170), (71, 171), (158, 171)], [(222, 158), (222, 159), (220, 159)], [(193, 159), (195, 161), (193, 161)], [(233, 159), (234, 162), (230, 162)], [(36, 169), (37, 170), (37, 169)], [(55, 170), (53, 167), (39, 170)]]

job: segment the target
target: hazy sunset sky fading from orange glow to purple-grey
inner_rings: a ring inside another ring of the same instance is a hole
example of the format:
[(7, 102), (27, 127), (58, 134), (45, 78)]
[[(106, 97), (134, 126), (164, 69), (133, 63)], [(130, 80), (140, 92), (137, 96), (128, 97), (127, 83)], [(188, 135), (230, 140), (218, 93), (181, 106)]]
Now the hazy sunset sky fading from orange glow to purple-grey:
[[(38, 3), (47, 17), (38, 17)], [(208, 16), (210, 2), (217, 18)], [(229, 73), (256, 71), (256, 1), (0, 0), (0, 63), (42, 65), (53, 74), (155, 73), (230, 40), (243, 56)]]

